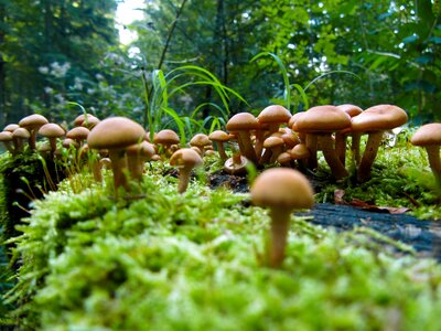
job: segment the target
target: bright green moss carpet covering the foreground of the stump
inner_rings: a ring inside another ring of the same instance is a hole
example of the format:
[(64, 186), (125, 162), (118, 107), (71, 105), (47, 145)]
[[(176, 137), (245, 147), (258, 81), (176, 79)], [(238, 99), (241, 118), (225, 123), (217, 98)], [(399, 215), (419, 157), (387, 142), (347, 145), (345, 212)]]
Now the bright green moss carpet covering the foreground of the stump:
[[(161, 166), (162, 167), (162, 166)], [(149, 172), (138, 200), (68, 181), (35, 201), (17, 238), (9, 300), (44, 330), (432, 329), (441, 268), (292, 217), (283, 268), (261, 264), (269, 217), (247, 194)], [(405, 247), (406, 248), (406, 247)], [(13, 300), (15, 299), (15, 300)]]

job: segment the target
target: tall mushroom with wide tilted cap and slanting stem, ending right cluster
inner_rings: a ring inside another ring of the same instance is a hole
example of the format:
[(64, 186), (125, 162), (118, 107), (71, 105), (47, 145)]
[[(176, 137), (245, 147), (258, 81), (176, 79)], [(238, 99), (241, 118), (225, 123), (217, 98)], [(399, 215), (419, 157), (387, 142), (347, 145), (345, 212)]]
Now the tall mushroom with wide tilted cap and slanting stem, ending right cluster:
[(370, 175), (384, 131), (402, 126), (407, 122), (407, 119), (406, 111), (394, 105), (373, 106), (352, 118), (351, 127), (353, 131), (369, 135), (357, 169), (359, 182), (365, 181)]

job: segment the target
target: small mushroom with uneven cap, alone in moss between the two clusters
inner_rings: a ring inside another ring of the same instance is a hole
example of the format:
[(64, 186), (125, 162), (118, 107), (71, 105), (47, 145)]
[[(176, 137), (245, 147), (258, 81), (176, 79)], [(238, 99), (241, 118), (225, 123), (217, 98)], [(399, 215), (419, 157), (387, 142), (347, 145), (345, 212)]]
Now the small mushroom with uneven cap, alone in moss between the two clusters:
[(178, 167), (180, 179), (179, 179), (179, 193), (184, 193), (190, 182), (190, 174), (193, 168), (198, 167), (203, 163), (201, 156), (191, 148), (182, 148), (176, 150), (170, 158), (170, 164)]

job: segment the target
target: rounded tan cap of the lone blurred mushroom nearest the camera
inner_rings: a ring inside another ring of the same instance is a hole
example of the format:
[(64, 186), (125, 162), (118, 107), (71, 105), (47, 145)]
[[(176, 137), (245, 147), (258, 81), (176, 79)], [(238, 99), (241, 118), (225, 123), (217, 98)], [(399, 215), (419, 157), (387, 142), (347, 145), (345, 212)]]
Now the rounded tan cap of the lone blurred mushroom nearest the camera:
[(299, 171), (271, 168), (263, 171), (252, 183), (252, 203), (272, 209), (310, 209), (314, 204), (313, 190)]

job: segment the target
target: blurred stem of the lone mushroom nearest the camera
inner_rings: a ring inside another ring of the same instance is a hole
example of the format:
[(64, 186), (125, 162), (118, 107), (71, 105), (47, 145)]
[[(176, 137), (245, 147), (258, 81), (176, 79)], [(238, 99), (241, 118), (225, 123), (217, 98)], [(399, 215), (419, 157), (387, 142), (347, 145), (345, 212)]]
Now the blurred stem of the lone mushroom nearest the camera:
[(267, 248), (268, 265), (271, 268), (278, 268), (284, 259), (291, 210), (275, 207), (271, 209), (270, 215), (271, 233)]

